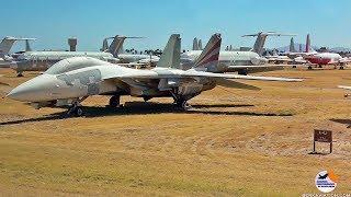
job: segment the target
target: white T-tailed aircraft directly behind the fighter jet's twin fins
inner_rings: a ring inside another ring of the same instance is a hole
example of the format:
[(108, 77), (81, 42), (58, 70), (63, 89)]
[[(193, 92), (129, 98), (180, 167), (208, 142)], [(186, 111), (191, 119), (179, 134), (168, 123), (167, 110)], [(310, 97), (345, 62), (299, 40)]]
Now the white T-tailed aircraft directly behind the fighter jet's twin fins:
[[(291, 34), (279, 34), (274, 32), (263, 33), (247, 36), (256, 36), (256, 43), (250, 51), (230, 51), (224, 50), (219, 54), (219, 65), (216, 70), (212, 72), (230, 72), (238, 71), (240, 74), (247, 74), (248, 70), (261, 70), (268, 68), (265, 65), (268, 59), (262, 57), (263, 46), (268, 36), (290, 36)], [(197, 38), (194, 38), (193, 49), (185, 51), (181, 55), (181, 62), (184, 69), (189, 69), (196, 58), (201, 55), (202, 50), (199, 49), (199, 46), (195, 45)]]

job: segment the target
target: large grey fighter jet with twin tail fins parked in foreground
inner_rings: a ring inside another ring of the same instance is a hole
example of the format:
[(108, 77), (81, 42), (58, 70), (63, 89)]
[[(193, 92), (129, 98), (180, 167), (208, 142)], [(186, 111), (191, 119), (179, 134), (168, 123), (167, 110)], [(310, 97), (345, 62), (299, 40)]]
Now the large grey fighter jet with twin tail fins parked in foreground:
[(110, 95), (110, 106), (120, 106), (120, 96), (131, 95), (148, 101), (152, 97), (172, 97), (174, 105), (188, 109), (188, 101), (204, 91), (224, 85), (258, 90), (236, 80), (302, 81), (301, 79), (238, 76), (206, 72), (218, 63), (220, 34), (215, 34), (189, 70), (180, 69), (181, 39), (170, 36), (168, 44), (150, 70), (112, 65), (90, 57), (73, 57), (52, 66), (45, 73), (18, 88), (7, 96), (30, 102), (36, 108), (68, 106), (67, 115), (81, 116), (81, 102), (92, 95)]

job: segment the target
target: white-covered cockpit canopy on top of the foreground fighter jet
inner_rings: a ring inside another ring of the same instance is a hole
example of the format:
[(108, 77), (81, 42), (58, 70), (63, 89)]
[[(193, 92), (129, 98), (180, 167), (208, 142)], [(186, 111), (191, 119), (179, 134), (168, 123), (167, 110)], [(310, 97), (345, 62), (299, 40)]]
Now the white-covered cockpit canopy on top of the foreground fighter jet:
[(95, 58), (90, 58), (90, 57), (72, 57), (72, 58), (60, 60), (57, 63), (54, 63), (49, 69), (46, 70), (45, 73), (60, 74), (64, 72), (69, 72), (72, 70), (81, 69), (81, 68), (106, 65), (106, 63), (109, 62), (102, 61)]

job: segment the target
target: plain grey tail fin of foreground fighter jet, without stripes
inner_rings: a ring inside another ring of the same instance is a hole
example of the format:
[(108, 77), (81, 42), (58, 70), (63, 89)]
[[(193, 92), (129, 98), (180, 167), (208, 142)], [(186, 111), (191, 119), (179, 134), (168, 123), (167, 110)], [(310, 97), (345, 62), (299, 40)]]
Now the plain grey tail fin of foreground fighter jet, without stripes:
[(160, 60), (156, 67), (161, 68), (180, 68), (180, 47), (181, 38), (180, 34), (172, 34), (168, 39), (168, 43), (163, 49)]

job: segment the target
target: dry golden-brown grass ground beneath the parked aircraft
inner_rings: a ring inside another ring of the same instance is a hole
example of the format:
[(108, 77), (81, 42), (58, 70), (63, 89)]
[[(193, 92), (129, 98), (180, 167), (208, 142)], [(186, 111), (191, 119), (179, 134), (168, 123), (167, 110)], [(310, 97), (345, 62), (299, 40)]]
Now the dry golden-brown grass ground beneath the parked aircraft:
[[(170, 99), (89, 97), (84, 117), (34, 109), (3, 97), (35, 76), (0, 70), (0, 193), (25, 195), (299, 196), (319, 193), (333, 170), (335, 193), (351, 193), (351, 70), (305, 68), (256, 73), (304, 78), (258, 82), (260, 91), (217, 86), (174, 111)], [(333, 152), (314, 129), (333, 131)]]

